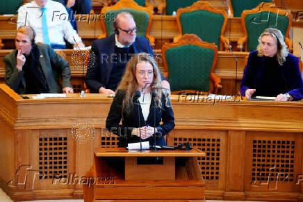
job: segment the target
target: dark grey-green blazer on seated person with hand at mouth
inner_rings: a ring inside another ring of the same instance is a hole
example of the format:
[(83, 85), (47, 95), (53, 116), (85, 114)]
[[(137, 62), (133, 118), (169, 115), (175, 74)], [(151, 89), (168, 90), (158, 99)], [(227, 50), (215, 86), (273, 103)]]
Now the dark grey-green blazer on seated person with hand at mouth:
[[(67, 61), (58, 56), (49, 45), (37, 44), (37, 46), (40, 52), (40, 57), (37, 60), (40, 62), (45, 79), (47, 79), (50, 93), (60, 93), (62, 88), (72, 87)], [(24, 94), (26, 89), (24, 72), (19, 72), (16, 68), (16, 55), (17, 50), (15, 49), (3, 59), (6, 63), (6, 85), (10, 86), (16, 93)], [(62, 88), (58, 84), (59, 77), (62, 77)]]

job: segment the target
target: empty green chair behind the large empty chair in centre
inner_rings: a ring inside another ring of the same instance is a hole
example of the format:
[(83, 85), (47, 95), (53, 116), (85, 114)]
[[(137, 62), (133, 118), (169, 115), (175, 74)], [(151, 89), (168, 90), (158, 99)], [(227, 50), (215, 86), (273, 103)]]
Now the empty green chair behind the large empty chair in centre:
[(174, 42), (185, 33), (194, 33), (205, 42), (214, 42), (218, 49), (228, 49), (224, 38), (227, 25), (227, 13), (224, 9), (213, 8), (208, 1), (197, 1), (192, 6), (179, 8), (177, 11), (177, 25), (179, 36)]

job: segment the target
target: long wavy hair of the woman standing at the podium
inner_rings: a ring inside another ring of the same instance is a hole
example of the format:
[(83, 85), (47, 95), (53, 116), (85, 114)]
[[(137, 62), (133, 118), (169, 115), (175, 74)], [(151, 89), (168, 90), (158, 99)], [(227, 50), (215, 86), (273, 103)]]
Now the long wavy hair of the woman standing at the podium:
[(156, 91), (155, 103), (157, 107), (161, 107), (162, 96), (165, 95), (165, 89), (161, 88), (161, 74), (154, 57), (147, 53), (135, 54), (127, 63), (126, 70), (122, 80), (117, 87), (117, 91), (122, 89), (126, 91), (122, 102), (122, 112), (129, 113), (133, 109), (133, 96), (138, 91), (138, 81), (136, 79), (136, 67), (140, 62), (150, 63), (154, 70), (154, 79), (151, 88)]

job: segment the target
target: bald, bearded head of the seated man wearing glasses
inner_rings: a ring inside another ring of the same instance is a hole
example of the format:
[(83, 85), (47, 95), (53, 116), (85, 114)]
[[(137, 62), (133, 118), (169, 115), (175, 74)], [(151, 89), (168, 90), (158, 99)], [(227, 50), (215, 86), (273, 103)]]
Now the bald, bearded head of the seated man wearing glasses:
[(117, 24), (119, 35), (117, 40), (122, 45), (132, 45), (136, 40), (136, 23), (131, 18), (120, 17)]

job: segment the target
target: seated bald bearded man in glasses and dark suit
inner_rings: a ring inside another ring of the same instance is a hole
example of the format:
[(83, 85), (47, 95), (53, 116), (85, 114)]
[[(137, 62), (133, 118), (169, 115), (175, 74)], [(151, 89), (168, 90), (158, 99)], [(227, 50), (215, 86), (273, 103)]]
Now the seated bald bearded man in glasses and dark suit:
[[(136, 22), (131, 13), (118, 13), (113, 30), (113, 35), (92, 42), (95, 60), (88, 64), (85, 79), (90, 93), (115, 94), (126, 63), (134, 54), (145, 52), (154, 56), (149, 41), (136, 35)], [(170, 84), (163, 76), (162, 79), (163, 88), (170, 90)]]

